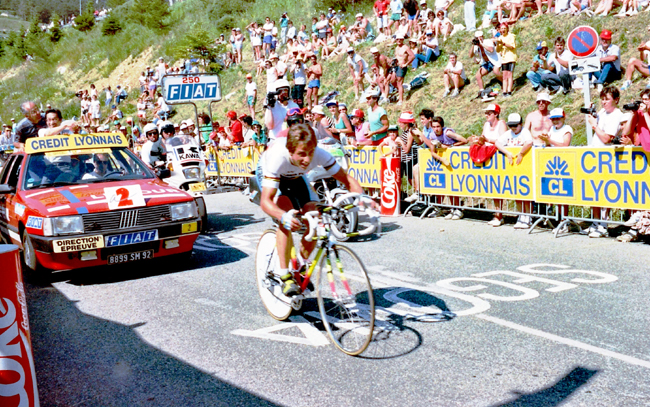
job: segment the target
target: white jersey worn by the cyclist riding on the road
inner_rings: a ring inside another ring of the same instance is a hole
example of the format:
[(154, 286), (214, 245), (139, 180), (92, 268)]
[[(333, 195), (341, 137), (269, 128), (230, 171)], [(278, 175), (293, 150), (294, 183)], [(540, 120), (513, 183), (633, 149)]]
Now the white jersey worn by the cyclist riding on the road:
[(298, 178), (310, 170), (321, 166), (325, 168), (328, 176), (333, 176), (341, 168), (334, 157), (320, 147), (316, 147), (314, 158), (306, 169), (297, 167), (291, 163), (291, 155), (287, 150), (286, 138), (277, 139), (262, 158), (262, 171), (264, 179), (262, 187), (279, 188), (281, 178)]

